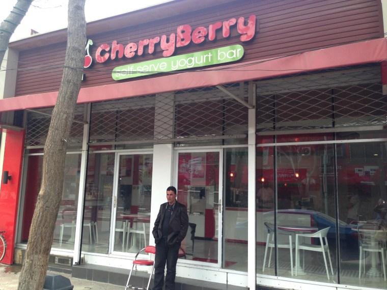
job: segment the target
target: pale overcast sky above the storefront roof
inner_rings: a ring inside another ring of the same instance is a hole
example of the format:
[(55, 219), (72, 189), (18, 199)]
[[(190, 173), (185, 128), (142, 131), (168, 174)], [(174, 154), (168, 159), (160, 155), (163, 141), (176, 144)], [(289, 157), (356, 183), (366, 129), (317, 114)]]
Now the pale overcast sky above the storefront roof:
[[(86, 21), (106, 18), (129, 11), (150, 7), (173, 0), (86, 0)], [(6, 19), (17, 0), (1, 0), (0, 22)], [(31, 30), (39, 33), (67, 27), (67, 0), (35, 0), (21, 24), (16, 28), (11, 41), (28, 37)]]

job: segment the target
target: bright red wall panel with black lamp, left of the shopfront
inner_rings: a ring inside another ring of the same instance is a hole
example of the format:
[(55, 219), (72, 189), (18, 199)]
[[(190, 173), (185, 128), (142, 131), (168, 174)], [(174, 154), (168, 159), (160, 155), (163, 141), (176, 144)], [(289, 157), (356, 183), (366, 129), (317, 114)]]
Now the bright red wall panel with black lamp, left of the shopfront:
[(2, 184), (0, 189), (0, 230), (6, 231), (7, 242), (6, 255), (1, 263), (12, 265), (25, 131), (7, 130), (6, 134), (3, 171), (9, 171), (12, 179)]

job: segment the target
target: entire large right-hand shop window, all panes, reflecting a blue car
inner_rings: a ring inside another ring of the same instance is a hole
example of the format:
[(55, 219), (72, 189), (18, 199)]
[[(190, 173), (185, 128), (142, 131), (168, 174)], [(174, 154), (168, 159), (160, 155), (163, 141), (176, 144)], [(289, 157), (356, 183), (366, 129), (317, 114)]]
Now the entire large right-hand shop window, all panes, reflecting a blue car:
[(258, 147), (257, 273), (385, 288), (386, 148)]

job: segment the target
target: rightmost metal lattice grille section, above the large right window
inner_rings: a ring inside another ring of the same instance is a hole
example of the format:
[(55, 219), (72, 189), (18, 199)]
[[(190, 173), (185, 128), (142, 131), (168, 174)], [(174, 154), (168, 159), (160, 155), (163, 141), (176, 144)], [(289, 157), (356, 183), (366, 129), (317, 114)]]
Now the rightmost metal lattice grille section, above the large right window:
[(385, 125), (380, 67), (257, 81), (257, 131)]

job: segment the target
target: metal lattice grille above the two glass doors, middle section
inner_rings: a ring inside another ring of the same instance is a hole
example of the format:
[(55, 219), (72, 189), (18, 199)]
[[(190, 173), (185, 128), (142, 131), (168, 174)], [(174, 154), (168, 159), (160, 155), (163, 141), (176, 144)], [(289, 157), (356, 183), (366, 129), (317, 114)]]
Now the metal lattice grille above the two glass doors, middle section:
[[(247, 86), (225, 86), (245, 101)], [(247, 133), (247, 108), (215, 87), (92, 105), (91, 143), (195, 140)]]

